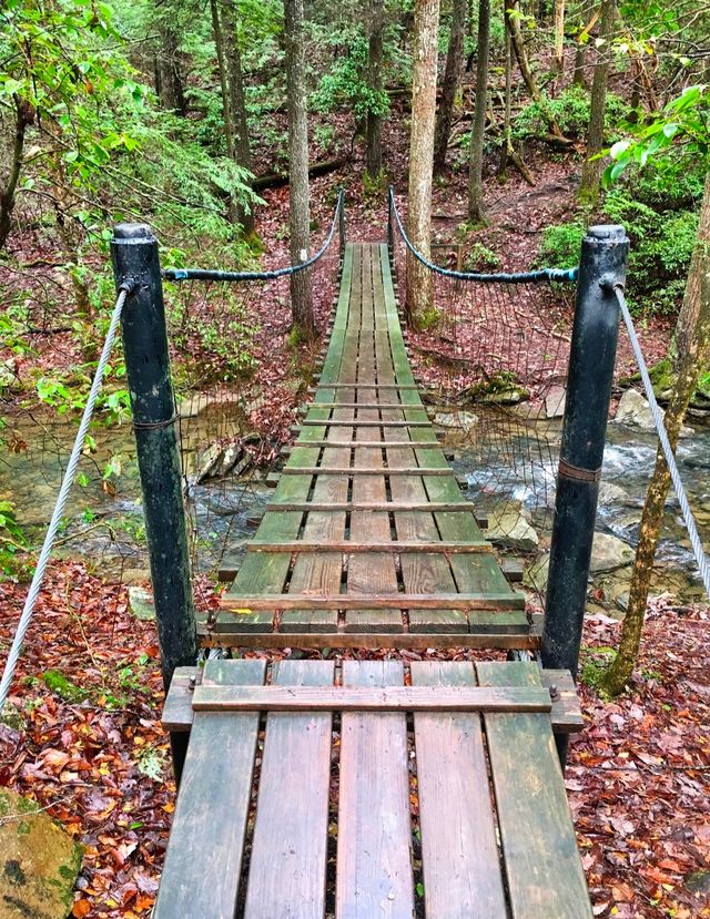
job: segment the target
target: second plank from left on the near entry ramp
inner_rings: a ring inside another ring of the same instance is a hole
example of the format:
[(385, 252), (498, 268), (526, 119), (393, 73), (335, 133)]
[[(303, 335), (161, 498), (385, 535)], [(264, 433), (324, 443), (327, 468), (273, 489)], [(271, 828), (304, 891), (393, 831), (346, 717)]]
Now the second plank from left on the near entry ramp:
[[(281, 661), (264, 688), (331, 687), (334, 672), (328, 661)], [(325, 915), (331, 729), (327, 712), (266, 719), (244, 919)]]

